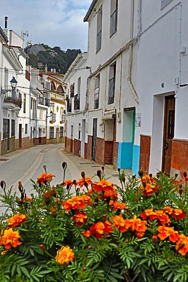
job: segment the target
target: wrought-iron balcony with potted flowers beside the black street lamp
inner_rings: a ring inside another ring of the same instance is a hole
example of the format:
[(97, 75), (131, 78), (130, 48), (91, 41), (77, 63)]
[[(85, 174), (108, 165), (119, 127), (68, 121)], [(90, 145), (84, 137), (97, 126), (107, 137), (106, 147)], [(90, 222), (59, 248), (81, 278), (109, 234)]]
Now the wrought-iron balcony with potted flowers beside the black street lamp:
[(4, 86), (5, 90), (10, 90), (4, 95), (3, 108), (12, 109), (13, 111), (20, 111), (22, 107), (22, 98), (21, 95), (16, 93), (15, 90), (12, 90), (11, 86)]

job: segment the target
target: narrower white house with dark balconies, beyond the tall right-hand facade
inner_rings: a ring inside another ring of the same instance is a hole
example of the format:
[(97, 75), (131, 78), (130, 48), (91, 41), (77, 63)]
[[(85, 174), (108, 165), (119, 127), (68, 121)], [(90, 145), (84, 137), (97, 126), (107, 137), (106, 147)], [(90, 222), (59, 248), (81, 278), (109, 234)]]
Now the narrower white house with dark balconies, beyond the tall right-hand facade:
[[(87, 52), (78, 54), (67, 70), (63, 82), (67, 84), (66, 92), (66, 138), (67, 152), (77, 156), (85, 153), (85, 132), (88, 122), (86, 106), (86, 84), (90, 75), (87, 67)], [(74, 71), (75, 69), (82, 69)]]

